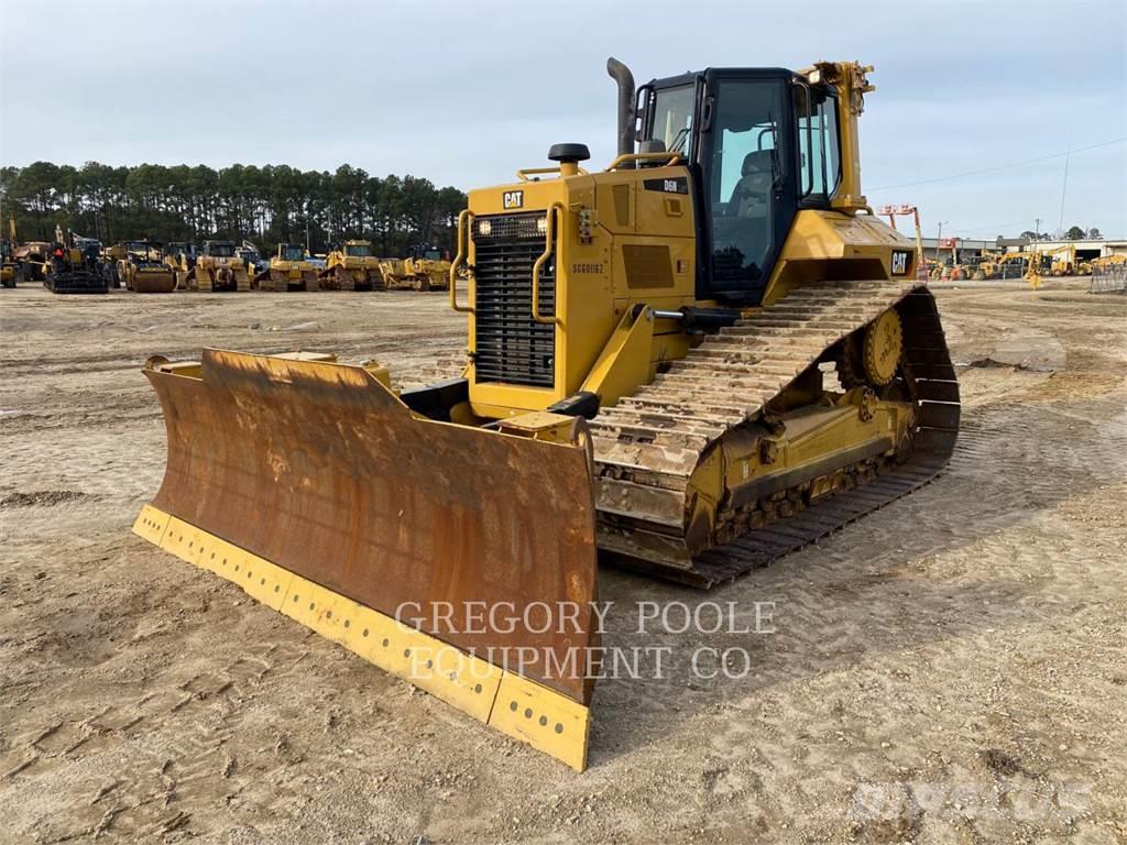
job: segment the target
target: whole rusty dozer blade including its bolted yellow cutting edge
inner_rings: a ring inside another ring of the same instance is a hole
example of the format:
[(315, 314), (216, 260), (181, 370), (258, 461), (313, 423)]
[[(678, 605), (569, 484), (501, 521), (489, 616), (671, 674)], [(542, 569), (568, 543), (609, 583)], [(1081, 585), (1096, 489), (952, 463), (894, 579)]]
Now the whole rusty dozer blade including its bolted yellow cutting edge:
[(151, 358), (168, 464), (134, 532), (582, 770), (586, 450), (421, 419), (362, 367)]

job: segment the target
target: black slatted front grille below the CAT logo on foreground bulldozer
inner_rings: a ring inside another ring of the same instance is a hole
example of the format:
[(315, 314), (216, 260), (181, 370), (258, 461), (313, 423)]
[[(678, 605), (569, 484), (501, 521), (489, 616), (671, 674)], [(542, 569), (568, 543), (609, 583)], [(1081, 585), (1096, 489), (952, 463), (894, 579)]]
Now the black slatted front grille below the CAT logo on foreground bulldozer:
[[(543, 212), (478, 217), (473, 224), (477, 382), (551, 388), (556, 326), (532, 319), (532, 265), (544, 251)], [(482, 223), (486, 232), (482, 233)], [(540, 270), (540, 314), (556, 313), (556, 256)]]

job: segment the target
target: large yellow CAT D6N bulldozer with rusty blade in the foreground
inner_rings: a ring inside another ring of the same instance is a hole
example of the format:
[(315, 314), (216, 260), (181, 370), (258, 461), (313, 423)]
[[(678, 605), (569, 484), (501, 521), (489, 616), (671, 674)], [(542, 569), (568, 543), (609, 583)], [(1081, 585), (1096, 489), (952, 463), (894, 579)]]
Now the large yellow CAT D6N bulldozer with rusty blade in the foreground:
[(580, 771), (598, 562), (720, 587), (932, 480), (959, 427), (915, 244), (861, 189), (872, 69), (607, 71), (605, 168), (554, 144), (469, 194), (461, 377), (150, 357), (168, 459), (134, 523)]

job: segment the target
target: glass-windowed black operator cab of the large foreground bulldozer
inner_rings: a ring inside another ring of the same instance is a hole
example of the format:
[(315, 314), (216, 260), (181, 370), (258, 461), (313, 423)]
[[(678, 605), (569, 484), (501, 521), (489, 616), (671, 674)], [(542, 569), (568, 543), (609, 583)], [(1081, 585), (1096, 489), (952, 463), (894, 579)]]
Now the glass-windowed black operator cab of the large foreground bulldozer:
[(701, 244), (699, 299), (757, 305), (799, 208), (841, 180), (836, 92), (781, 68), (710, 69), (638, 89), (640, 152), (680, 152)]

